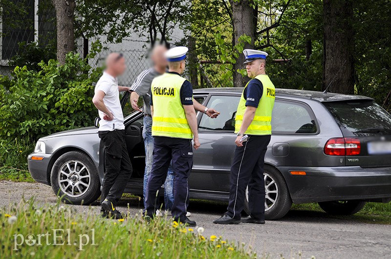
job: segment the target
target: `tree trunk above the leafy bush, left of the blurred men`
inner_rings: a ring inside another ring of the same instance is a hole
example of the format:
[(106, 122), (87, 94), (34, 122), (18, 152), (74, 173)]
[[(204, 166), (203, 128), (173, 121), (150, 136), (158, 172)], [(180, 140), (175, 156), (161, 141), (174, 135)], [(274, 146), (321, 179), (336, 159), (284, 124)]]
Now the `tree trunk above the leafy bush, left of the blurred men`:
[(57, 23), (57, 60), (65, 63), (65, 55), (75, 48), (73, 29), (75, 0), (52, 0), (56, 9)]

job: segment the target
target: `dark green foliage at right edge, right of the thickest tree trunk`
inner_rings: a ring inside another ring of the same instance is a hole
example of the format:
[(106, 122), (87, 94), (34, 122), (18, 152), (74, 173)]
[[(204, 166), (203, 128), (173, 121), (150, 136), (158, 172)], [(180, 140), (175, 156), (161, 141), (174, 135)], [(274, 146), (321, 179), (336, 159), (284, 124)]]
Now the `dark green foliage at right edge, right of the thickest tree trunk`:
[(391, 2), (358, 0), (354, 8), (357, 94), (391, 112)]

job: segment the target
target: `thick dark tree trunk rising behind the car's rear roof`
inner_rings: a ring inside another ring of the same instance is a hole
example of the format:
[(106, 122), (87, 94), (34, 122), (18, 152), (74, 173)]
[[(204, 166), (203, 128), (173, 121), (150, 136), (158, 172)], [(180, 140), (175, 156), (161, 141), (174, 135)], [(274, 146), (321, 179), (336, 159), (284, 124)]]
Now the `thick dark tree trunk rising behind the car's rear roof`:
[(324, 0), (323, 90), (335, 77), (329, 92), (354, 93), (352, 19), (353, 0)]

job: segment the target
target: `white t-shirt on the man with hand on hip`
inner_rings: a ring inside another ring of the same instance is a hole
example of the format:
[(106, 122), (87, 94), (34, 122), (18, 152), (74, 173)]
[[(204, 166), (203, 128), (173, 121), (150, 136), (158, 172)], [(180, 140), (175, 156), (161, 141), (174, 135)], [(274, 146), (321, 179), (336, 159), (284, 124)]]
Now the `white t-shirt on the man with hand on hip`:
[(124, 115), (122, 113), (121, 102), (119, 100), (117, 80), (114, 77), (110, 76), (108, 73), (103, 72), (102, 77), (96, 83), (95, 93), (98, 90), (101, 90), (106, 94), (103, 98), (103, 102), (114, 116), (113, 120), (103, 120), (103, 112), (98, 111), (99, 117), (101, 118), (101, 120), (99, 121), (99, 131), (113, 131), (115, 129), (125, 129)]

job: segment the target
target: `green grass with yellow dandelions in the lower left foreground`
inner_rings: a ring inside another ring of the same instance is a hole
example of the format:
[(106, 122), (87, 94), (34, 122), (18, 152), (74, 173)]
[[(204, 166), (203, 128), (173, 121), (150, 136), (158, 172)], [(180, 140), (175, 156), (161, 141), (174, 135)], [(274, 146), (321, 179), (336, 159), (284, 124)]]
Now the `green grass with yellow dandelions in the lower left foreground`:
[[(76, 214), (60, 202), (39, 208), (32, 199), (22, 200), (0, 209), (0, 224), (1, 258), (256, 257), (243, 245), (218, 235), (204, 237), (196, 228), (174, 224), (170, 219), (150, 223), (141, 215), (123, 221), (102, 219), (93, 211)], [(54, 233), (57, 244), (64, 245), (53, 245)], [(25, 240), (35, 240), (35, 244), (29, 245)]]

